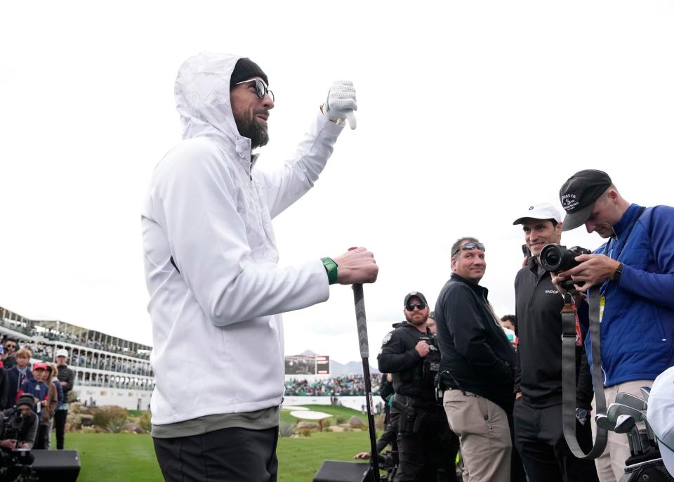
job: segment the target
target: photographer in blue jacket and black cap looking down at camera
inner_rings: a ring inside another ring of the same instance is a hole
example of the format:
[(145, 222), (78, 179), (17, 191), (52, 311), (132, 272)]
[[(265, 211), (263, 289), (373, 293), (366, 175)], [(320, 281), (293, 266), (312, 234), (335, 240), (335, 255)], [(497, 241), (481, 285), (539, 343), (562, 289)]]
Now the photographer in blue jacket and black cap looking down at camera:
[[(630, 204), (608, 174), (595, 170), (571, 176), (560, 200), (567, 211), (562, 230), (585, 224), (607, 242), (577, 256), (579, 266), (554, 281), (570, 276), (576, 289), (600, 296), (607, 403), (620, 391), (640, 396), (640, 387), (674, 365), (674, 208)], [(591, 342), (588, 336), (590, 367)], [(607, 450), (597, 459), (600, 481), (618, 480), (629, 456), (627, 438), (609, 431)]]

